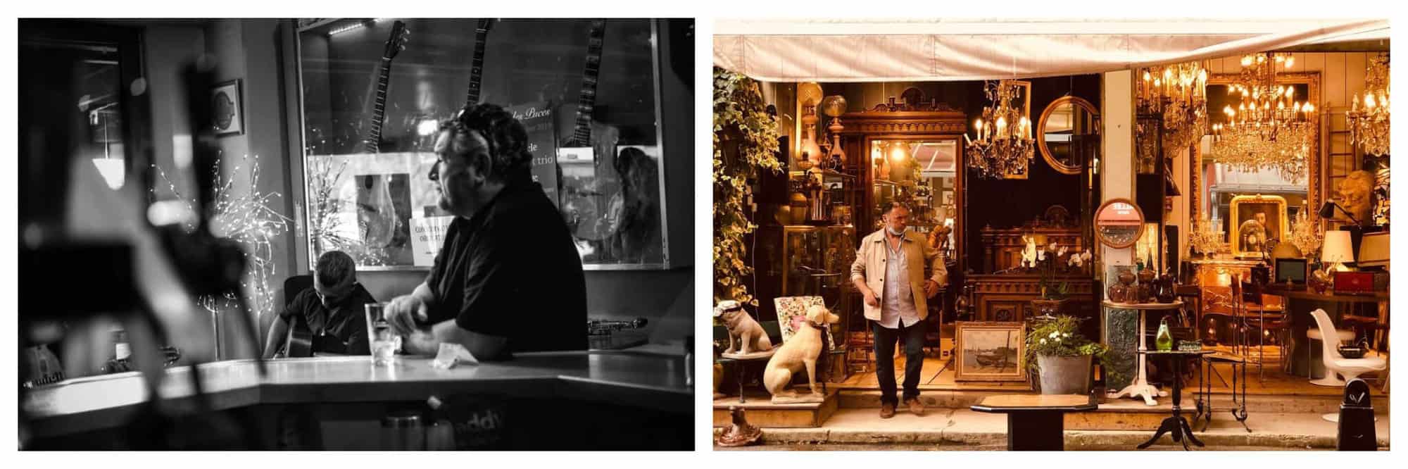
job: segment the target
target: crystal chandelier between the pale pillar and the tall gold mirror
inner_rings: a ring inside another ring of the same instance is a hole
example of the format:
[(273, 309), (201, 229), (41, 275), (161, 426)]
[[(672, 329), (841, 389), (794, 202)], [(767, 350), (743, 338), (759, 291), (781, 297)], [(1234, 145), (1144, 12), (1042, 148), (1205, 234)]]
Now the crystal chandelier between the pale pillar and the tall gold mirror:
[(1135, 106), (1139, 114), (1163, 117), (1163, 148), (1188, 148), (1207, 132), (1207, 85), (1208, 69), (1201, 61), (1143, 70)]

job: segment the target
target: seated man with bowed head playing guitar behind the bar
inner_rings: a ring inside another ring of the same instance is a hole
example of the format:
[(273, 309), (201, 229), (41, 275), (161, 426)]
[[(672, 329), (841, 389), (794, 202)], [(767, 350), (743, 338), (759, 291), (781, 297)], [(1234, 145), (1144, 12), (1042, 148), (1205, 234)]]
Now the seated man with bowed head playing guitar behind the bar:
[[(356, 283), (352, 256), (342, 251), (324, 252), (313, 270), (313, 287), (297, 293), (269, 325), (263, 356), (275, 358), (286, 342), (284, 356), (313, 356), (313, 352), (370, 355), (363, 311), (366, 303), (376, 303), (376, 299)], [(289, 334), (290, 324), (293, 334)]]

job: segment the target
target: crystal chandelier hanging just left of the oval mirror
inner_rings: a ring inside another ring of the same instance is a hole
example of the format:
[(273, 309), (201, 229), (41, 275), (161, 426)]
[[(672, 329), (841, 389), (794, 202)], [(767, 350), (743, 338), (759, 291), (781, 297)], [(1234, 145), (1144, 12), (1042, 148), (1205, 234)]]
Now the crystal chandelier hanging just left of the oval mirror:
[(1031, 83), (998, 80), (983, 86), (993, 104), (984, 106), (983, 117), (973, 123), (976, 138), (963, 134), (969, 168), (976, 169), (979, 177), (1001, 179), (1026, 173), (1035, 155), (1035, 139), (1022, 90), (1031, 90)]

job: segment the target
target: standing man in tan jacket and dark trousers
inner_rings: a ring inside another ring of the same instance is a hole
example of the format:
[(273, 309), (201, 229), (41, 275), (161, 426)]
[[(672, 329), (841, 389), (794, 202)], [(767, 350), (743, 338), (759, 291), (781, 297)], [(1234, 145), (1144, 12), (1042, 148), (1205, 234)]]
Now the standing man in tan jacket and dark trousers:
[[(910, 232), (910, 208), (891, 203), (881, 214), (884, 228), (860, 239), (850, 282), (865, 299), (866, 320), (876, 338), (876, 377), (880, 380), (880, 418), (894, 417), (898, 404), (894, 383), (894, 342), (904, 337), (904, 401), (910, 411), (924, 415), (919, 403), (919, 370), (924, 366), (925, 299), (934, 297), (948, 282), (943, 255)], [(924, 265), (932, 275), (924, 276)]]

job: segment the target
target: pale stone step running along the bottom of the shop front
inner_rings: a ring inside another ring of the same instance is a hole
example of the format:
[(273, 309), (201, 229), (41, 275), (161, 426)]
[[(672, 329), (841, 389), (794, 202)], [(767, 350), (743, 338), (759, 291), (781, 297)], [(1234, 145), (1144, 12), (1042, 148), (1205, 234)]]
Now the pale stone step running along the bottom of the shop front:
[[(1319, 414), (1291, 413), (1264, 414), (1260, 425), (1252, 425), (1247, 432), (1232, 418), (1214, 420), (1202, 431), (1201, 424), (1194, 432), (1207, 446), (1195, 449), (1269, 448), (1269, 449), (1333, 449), (1336, 424), (1321, 420)], [(1135, 449), (1149, 439), (1155, 423), (1142, 430), (1066, 430), (1066, 449)], [(1381, 449), (1388, 448), (1388, 418), (1376, 424), (1377, 441)], [(717, 437), (722, 428), (715, 428)], [(915, 417), (901, 410), (895, 417), (881, 420), (870, 408), (841, 408), (819, 428), (763, 428), (763, 445), (859, 445), (853, 449), (886, 449), (912, 445), (959, 445), (964, 449), (1000, 449), (1007, 444), (1007, 417), (1004, 414), (976, 413), (970, 410), (932, 410)], [(1164, 437), (1152, 449), (1183, 449), (1181, 445)]]

